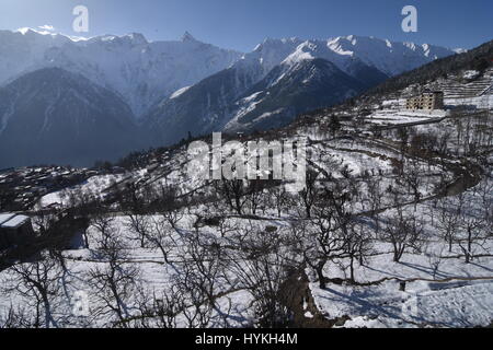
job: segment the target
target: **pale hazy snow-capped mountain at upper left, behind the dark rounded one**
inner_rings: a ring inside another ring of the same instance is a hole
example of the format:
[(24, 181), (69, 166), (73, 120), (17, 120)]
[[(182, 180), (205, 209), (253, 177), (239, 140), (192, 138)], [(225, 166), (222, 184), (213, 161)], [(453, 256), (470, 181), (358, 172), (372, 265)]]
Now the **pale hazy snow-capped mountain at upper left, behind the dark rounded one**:
[(121, 94), (138, 118), (176, 90), (228, 68), (241, 54), (196, 40), (148, 42), (141, 34), (77, 39), (34, 30), (0, 32), (0, 85), (58, 67)]

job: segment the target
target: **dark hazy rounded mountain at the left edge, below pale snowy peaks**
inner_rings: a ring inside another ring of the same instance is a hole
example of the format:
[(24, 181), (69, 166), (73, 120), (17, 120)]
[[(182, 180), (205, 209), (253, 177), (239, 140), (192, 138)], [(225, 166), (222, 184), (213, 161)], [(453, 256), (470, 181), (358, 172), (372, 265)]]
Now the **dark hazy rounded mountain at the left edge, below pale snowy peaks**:
[(0, 167), (92, 165), (139, 147), (133, 113), (118, 95), (58, 68), (0, 89)]

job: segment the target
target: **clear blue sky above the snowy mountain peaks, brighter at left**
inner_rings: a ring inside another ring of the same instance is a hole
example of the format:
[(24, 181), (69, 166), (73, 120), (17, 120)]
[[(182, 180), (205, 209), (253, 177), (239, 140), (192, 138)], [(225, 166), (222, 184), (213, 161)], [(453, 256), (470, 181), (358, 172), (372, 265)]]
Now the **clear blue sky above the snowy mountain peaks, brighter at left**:
[[(367, 35), (472, 48), (492, 39), (492, 0), (1, 0), (0, 28), (51, 25), (72, 32), (72, 9), (89, 9), (90, 32), (197, 39), (241, 51), (265, 37)], [(419, 11), (417, 33), (401, 30), (402, 8)]]

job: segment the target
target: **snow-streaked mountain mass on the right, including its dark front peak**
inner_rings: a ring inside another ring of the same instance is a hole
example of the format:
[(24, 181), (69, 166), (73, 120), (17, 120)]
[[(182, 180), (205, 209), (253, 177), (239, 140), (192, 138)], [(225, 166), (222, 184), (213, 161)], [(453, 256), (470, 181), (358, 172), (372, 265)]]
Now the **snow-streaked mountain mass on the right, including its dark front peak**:
[[(426, 44), (353, 35), (326, 40), (266, 39), (232, 67), (164, 98), (146, 122), (158, 133), (158, 144), (173, 143), (188, 132), (278, 127), (296, 114), (341, 102), (454, 54)], [(337, 89), (341, 79), (344, 83)]]

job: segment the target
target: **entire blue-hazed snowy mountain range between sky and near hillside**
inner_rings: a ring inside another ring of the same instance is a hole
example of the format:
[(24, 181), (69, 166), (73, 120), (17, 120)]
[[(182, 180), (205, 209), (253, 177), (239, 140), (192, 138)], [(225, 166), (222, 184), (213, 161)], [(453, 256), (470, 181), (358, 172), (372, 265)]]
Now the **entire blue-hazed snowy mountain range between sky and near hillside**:
[(211, 131), (289, 124), (456, 51), (374, 37), (221, 49), (185, 33), (71, 38), (0, 31), (0, 167), (91, 165)]

